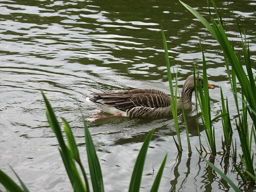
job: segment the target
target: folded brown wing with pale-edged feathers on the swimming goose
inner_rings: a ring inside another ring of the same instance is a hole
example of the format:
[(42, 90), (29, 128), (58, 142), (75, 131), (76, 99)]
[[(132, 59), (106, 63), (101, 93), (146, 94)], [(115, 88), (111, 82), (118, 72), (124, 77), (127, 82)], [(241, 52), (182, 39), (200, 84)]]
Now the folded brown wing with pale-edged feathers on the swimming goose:
[(92, 93), (90, 99), (103, 105), (115, 106), (115, 108), (126, 111), (137, 106), (146, 108), (164, 108), (169, 106), (170, 97), (162, 91), (153, 89), (135, 89), (115, 93)]

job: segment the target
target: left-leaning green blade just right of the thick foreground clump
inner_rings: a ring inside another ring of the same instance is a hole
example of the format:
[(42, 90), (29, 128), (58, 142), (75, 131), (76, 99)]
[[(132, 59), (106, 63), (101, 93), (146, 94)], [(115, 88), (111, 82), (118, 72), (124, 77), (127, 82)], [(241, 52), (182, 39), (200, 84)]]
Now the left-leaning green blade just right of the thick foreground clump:
[(94, 143), (92, 140), (92, 136), (89, 132), (86, 120), (83, 118), (83, 125), (84, 125), (84, 134), (86, 138), (86, 151), (88, 157), (88, 164), (90, 169), (91, 181), (93, 186), (93, 191), (103, 192), (104, 185), (103, 185), (103, 178), (101, 173), (101, 168), (99, 164), (99, 159), (94, 147)]

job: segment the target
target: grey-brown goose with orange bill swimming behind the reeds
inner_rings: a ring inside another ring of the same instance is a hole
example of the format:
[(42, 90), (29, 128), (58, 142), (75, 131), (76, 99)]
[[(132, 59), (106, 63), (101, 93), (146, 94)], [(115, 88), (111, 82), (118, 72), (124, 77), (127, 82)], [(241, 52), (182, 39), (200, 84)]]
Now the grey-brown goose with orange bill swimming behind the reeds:
[[(203, 77), (198, 76), (203, 88)], [(208, 84), (209, 89), (214, 86)], [(194, 75), (187, 77), (183, 84), (181, 99), (177, 100), (177, 110), (182, 111), (183, 100), (185, 110), (191, 108), (192, 93), (195, 90)], [(137, 118), (164, 117), (172, 114), (170, 95), (154, 89), (134, 89), (114, 93), (91, 93), (89, 100), (99, 106), (104, 112), (114, 116)]]

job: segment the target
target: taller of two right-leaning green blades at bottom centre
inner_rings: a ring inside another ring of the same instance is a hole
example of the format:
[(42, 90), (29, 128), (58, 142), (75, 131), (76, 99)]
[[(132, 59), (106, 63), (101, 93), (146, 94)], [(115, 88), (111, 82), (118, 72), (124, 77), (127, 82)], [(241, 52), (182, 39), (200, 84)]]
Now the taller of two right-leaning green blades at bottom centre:
[(133, 169), (133, 175), (132, 175), (130, 186), (129, 186), (129, 192), (137, 192), (140, 190), (140, 183), (141, 183), (147, 148), (148, 148), (148, 145), (150, 144), (153, 133), (154, 133), (154, 129), (152, 129), (148, 133), (140, 149), (139, 155), (137, 157), (137, 160)]

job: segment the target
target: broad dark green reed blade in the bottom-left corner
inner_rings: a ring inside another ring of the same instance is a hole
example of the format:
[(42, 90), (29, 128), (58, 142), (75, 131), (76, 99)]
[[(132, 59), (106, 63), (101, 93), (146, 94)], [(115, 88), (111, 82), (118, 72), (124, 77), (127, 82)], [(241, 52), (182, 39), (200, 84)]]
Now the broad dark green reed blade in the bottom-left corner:
[(0, 183), (9, 191), (23, 192), (20, 188), (3, 170), (0, 169)]

